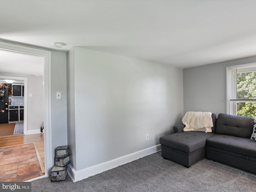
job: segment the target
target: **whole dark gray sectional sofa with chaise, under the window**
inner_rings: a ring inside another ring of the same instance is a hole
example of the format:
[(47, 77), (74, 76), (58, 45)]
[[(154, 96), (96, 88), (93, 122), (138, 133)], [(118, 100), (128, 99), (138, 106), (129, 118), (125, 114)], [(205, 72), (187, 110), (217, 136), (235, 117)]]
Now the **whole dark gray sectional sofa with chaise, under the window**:
[(250, 140), (254, 118), (221, 113), (212, 114), (212, 121), (212, 133), (174, 126), (174, 134), (160, 138), (162, 157), (185, 167), (208, 158), (256, 173), (256, 141)]

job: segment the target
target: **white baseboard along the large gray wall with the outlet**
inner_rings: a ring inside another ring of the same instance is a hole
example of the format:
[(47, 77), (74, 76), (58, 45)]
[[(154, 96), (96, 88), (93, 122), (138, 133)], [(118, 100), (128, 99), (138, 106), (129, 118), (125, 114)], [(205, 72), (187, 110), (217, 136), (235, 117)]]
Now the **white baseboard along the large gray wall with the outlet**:
[(153, 154), (160, 150), (161, 150), (161, 145), (158, 144), (158, 145), (152, 146), (150, 148), (146, 148), (144, 150), (140, 150), (140, 151), (134, 152), (132, 154), (128, 154), (128, 155), (125, 155), (125, 156), (122, 156), (122, 157), (119, 157), (119, 158), (116, 158), (116, 159), (113, 159), (113, 160), (110, 160), (110, 161), (107, 161), (107, 162), (104, 162), (104, 163), (101, 163), (98, 165), (94, 165), (94, 166), (91, 166), (91, 167), (88, 167), (88, 168), (85, 168), (82, 170), (78, 170), (78, 171), (74, 170), (74, 168), (70, 164), (68, 164), (68, 174), (69, 174), (70, 178), (72, 178), (72, 180), (74, 182), (76, 182), (76, 181), (88, 178), (90, 176), (102, 173), (106, 170), (110, 170), (110, 169), (118, 167), (120, 165), (132, 162), (134, 160), (137, 160), (144, 156)]

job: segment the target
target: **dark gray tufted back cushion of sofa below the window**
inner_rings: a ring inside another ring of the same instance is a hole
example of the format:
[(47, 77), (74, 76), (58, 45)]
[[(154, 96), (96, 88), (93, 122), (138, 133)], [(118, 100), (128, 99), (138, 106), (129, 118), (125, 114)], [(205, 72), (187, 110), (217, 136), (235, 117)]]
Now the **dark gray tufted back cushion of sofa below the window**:
[(216, 123), (216, 134), (250, 138), (254, 118), (220, 113)]

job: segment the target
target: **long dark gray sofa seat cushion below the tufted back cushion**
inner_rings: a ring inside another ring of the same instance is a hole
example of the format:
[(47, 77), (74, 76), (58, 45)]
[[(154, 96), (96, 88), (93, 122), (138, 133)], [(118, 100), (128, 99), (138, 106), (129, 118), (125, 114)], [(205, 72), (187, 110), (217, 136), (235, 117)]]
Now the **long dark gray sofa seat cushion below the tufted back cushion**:
[(216, 134), (206, 140), (206, 146), (256, 158), (256, 142), (248, 138)]

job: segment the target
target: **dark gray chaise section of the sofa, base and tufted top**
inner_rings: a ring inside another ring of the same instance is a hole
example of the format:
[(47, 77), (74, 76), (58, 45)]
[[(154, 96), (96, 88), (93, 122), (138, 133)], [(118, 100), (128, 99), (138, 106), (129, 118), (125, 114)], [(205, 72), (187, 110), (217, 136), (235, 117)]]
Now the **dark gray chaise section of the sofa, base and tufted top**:
[(206, 139), (214, 133), (187, 131), (160, 138), (162, 157), (190, 167), (205, 157)]

